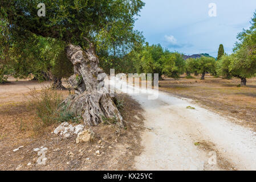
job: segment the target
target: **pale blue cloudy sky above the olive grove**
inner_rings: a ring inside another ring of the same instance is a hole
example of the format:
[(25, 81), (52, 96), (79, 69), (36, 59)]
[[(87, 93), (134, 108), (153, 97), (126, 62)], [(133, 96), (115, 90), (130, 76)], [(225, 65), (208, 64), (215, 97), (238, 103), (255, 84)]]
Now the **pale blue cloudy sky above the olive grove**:
[[(160, 43), (186, 55), (209, 53), (217, 57), (224, 44), (231, 53), (238, 32), (250, 27), (256, 0), (144, 0), (135, 29), (149, 44)], [(216, 3), (217, 16), (210, 17), (209, 4)]]

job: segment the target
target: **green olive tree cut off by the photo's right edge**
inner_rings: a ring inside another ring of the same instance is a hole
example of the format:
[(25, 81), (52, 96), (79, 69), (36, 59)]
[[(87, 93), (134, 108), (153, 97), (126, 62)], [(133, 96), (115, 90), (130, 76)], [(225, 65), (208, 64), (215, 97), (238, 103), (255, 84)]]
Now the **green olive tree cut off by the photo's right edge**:
[(234, 53), (223, 56), (218, 63), (218, 72), (225, 77), (238, 77), (241, 86), (246, 86), (246, 78), (256, 73), (256, 12), (251, 19), (249, 30), (243, 30), (237, 36)]

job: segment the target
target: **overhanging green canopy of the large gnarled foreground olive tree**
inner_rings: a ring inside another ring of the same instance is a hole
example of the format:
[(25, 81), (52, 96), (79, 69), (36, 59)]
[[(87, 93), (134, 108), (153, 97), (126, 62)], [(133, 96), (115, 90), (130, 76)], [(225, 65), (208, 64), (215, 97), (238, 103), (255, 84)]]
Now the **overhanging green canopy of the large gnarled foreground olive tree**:
[[(46, 16), (44, 17), (38, 16), (37, 5), (39, 3), (44, 3), (46, 6)], [(63, 44), (66, 46), (68, 43), (72, 43), (83, 49), (86, 49), (90, 42), (95, 46), (101, 66), (110, 68), (113, 65), (112, 68), (122, 69), (122, 64), (119, 64), (119, 61), (144, 41), (141, 33), (133, 30), (135, 16), (139, 15), (143, 6), (144, 3), (140, 0), (10, 0), (0, 1), (0, 18), (10, 23), (9, 30), (14, 40), (19, 39), (24, 44), (31, 44), (34, 36), (37, 36), (38, 39), (39, 37), (46, 38), (45, 41), (50, 45), (41, 45), (46, 46), (45, 50), (42, 50), (43, 48), (34, 49), (39, 45), (30, 50), (30, 46), (25, 49), (27, 52), (36, 52), (26, 55), (30, 61), (32, 55), (49, 50), (59, 52), (46, 56), (47, 60), (50, 57), (54, 57), (53, 60), (58, 60), (58, 57), (63, 56), (63, 51), (56, 46), (57, 42), (60, 43), (60, 47)], [(29, 34), (30, 37), (24, 36), (25, 34)], [(41, 56), (43, 58), (44, 55)], [(15, 58), (17, 59), (17, 57), (18, 53)], [(20, 56), (20, 61), (18, 61), (21, 64), (22, 57)], [(62, 59), (64, 58), (62, 57)], [(58, 65), (63, 64), (53, 60), (50, 61), (51, 68), (58, 68)], [(24, 62), (32, 63), (33, 61)], [(43, 66), (44, 62), (40, 63), (39, 67), (48, 69), (48, 65)], [(34, 64), (29, 65), (34, 67)], [(19, 69), (22, 69), (17, 72), (19, 76), (31, 72), (29, 68), (22, 65)], [(42, 68), (42, 70), (44, 69)], [(66, 75), (63, 73), (65, 70), (60, 69), (59, 72)], [(56, 69), (53, 73), (62, 75), (56, 73)]]

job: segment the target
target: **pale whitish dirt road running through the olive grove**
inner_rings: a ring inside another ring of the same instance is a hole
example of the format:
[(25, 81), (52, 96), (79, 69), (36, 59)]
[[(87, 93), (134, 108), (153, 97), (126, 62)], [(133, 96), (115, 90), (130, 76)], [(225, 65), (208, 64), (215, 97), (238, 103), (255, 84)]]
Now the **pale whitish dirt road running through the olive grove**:
[[(128, 86), (130, 92), (131, 89)], [(250, 129), (235, 125), (192, 100), (164, 92), (159, 92), (156, 100), (148, 100), (147, 93), (129, 94), (145, 110), (147, 127), (142, 137), (144, 152), (136, 158), (137, 169), (256, 169), (256, 133)]]

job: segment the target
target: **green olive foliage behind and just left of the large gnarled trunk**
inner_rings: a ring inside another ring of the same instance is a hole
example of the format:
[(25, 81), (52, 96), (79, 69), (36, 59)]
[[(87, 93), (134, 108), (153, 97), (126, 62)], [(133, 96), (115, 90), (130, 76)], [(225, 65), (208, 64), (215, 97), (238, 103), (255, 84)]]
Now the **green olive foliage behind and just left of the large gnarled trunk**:
[(32, 34), (26, 44), (19, 38), (13, 40), (11, 65), (14, 77), (26, 78), (31, 74), (36, 80), (68, 77), (72, 74), (72, 63), (67, 59), (66, 43)]

